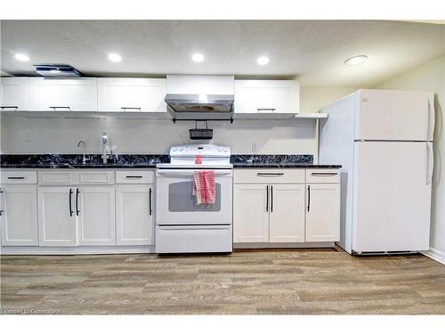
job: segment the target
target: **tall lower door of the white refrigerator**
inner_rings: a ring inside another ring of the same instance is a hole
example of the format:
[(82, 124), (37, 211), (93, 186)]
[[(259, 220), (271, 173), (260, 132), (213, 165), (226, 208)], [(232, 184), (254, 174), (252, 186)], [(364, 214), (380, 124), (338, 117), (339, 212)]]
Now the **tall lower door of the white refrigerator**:
[(352, 249), (427, 250), (431, 143), (356, 142)]

